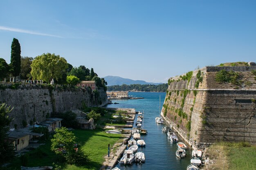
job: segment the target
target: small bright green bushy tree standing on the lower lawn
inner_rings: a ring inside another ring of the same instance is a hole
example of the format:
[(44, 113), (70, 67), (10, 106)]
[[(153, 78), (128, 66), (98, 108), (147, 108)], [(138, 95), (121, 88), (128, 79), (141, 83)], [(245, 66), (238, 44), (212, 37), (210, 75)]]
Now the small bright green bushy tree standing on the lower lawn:
[[(51, 139), (51, 150), (54, 151), (57, 155), (67, 157), (68, 155), (73, 154), (74, 144), (76, 143), (76, 137), (74, 133), (67, 130), (65, 127), (55, 129), (55, 134), (53, 139)], [(63, 150), (66, 154), (64, 155)]]

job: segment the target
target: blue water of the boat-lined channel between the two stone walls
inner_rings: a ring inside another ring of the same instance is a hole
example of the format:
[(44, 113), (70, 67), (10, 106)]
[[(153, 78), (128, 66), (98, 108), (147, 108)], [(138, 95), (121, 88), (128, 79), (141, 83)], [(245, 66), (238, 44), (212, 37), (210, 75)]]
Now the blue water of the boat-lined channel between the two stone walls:
[[(162, 109), (166, 93), (129, 92), (129, 95), (144, 97), (144, 99), (116, 99), (112, 100), (112, 103), (119, 104), (109, 104), (107, 107), (135, 108), (136, 111), (141, 112), (144, 110), (144, 128), (148, 131), (148, 135), (141, 136), (141, 139), (146, 142), (146, 147), (139, 147), (138, 151), (144, 152), (146, 163), (133, 163), (121, 165), (121, 167), (118, 164), (117, 167), (121, 170), (186, 170), (191, 159), (191, 149), (186, 151), (185, 158), (178, 159), (175, 155), (177, 144), (171, 144), (167, 134), (162, 132), (164, 125), (155, 122), (155, 117), (159, 117), (159, 95)], [(180, 137), (179, 139), (182, 141)]]

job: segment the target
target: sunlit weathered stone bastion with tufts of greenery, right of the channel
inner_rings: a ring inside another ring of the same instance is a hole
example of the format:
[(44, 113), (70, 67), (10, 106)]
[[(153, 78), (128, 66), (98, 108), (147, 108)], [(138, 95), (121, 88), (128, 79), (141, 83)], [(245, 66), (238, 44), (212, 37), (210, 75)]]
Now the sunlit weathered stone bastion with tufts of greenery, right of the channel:
[[(238, 84), (216, 82), (221, 69), (239, 74)], [(247, 141), (256, 144), (256, 66), (204, 67), (202, 82), (193, 71), (191, 80), (171, 78), (162, 115), (194, 148), (216, 141)]]

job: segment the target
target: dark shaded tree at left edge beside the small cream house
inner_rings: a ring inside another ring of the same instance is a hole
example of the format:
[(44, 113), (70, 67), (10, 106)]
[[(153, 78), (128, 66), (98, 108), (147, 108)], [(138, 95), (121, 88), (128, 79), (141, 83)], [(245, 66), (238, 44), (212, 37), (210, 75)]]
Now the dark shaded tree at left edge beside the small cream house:
[(14, 156), (14, 147), (6, 140), (7, 132), (12, 121), (9, 117), (11, 110), (10, 106), (7, 107), (4, 103), (0, 105), (0, 164), (5, 164)]

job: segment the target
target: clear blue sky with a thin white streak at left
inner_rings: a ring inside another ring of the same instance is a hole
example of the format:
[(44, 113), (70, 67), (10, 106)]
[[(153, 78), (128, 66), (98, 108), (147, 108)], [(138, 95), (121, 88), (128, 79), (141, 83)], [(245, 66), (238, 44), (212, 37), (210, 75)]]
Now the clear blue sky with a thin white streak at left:
[(2, 0), (0, 57), (55, 53), (99, 77), (147, 82), (256, 62), (256, 0)]

